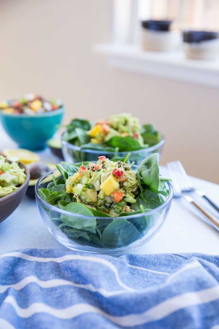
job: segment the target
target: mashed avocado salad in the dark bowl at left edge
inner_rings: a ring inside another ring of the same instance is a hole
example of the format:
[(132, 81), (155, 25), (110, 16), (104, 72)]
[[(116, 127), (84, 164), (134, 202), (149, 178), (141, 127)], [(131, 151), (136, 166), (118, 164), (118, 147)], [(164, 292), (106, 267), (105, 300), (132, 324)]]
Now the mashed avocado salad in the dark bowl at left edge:
[(17, 190), (25, 179), (24, 169), (17, 162), (0, 155), (0, 198)]

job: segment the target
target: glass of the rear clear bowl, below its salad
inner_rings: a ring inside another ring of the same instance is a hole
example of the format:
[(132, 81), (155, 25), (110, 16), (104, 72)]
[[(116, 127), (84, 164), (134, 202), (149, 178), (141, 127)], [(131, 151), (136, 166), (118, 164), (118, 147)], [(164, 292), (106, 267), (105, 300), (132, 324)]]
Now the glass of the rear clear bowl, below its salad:
[[(99, 155), (105, 155), (107, 158), (112, 159), (114, 157), (121, 157), (124, 158), (127, 153), (125, 152), (107, 152), (107, 151), (99, 151), (99, 150), (90, 150), (90, 149), (81, 149), (80, 146), (71, 144), (67, 142), (66, 140), (63, 139), (63, 135), (65, 132), (62, 134), (62, 154), (64, 157), (64, 160), (66, 162), (70, 163), (77, 163), (77, 162), (82, 162), (82, 161), (93, 161), (94, 159), (98, 159)], [(159, 154), (159, 159), (161, 157), (163, 147), (165, 143), (165, 138), (162, 135), (161, 141), (153, 146), (143, 148), (141, 150), (136, 150), (136, 151), (130, 151), (130, 157), (129, 157), (129, 162), (132, 163), (133, 161), (135, 162), (136, 165), (139, 165), (142, 160), (144, 160), (148, 155), (152, 153), (158, 153)]]

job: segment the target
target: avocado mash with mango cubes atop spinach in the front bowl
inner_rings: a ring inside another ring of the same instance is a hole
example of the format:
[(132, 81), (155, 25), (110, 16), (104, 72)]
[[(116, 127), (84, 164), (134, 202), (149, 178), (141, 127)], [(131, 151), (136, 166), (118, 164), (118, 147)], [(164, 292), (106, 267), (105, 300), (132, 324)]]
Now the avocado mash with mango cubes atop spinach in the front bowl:
[(111, 216), (131, 212), (138, 188), (136, 171), (121, 161), (113, 162), (100, 156), (89, 169), (81, 165), (78, 172), (66, 180), (66, 192), (76, 201), (94, 207)]

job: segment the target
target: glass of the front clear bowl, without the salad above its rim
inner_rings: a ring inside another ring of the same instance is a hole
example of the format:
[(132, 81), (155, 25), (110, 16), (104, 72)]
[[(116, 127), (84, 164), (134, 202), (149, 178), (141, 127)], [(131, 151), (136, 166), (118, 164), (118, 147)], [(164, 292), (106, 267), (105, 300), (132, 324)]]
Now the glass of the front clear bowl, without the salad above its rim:
[(173, 198), (173, 188), (169, 182), (166, 183), (169, 195), (164, 197), (165, 202), (141, 214), (96, 217), (64, 211), (44, 201), (39, 194), (39, 189), (47, 187), (52, 181), (55, 170), (38, 180), (35, 186), (36, 202), (49, 232), (67, 248), (115, 256), (129, 253), (151, 239), (168, 215)]

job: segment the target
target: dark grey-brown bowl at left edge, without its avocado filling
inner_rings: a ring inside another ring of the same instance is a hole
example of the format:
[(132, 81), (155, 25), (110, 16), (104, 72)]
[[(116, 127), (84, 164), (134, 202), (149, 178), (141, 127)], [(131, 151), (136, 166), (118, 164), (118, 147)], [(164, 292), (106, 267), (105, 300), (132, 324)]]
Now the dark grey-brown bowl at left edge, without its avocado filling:
[(3, 198), (0, 198), (0, 223), (11, 215), (19, 206), (28, 188), (28, 183), (30, 180), (29, 170), (22, 162), (19, 162), (19, 166), (25, 169), (26, 179), (19, 189), (9, 195), (4, 196)]

